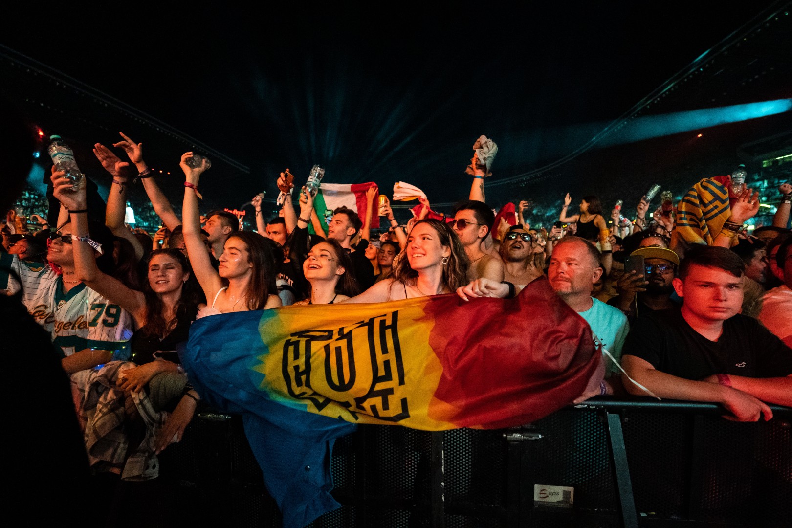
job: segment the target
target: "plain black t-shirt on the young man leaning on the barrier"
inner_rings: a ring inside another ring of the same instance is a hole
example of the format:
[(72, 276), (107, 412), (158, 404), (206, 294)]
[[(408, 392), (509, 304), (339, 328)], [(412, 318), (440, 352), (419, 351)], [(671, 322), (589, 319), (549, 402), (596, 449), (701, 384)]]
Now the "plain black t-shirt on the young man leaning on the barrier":
[(678, 378), (712, 374), (776, 378), (792, 374), (792, 349), (759, 321), (737, 314), (723, 321), (718, 341), (696, 332), (679, 308), (646, 313), (635, 320), (622, 355), (634, 355)]

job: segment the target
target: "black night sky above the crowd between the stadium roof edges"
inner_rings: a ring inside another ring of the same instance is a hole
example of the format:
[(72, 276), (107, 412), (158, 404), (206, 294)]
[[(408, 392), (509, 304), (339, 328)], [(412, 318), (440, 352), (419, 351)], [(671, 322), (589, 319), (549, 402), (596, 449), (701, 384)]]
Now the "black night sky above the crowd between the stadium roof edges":
[[(444, 13), (374, 3), (146, 13), (69, 6), (70, 29), (22, 13), (0, 43), (249, 167), (229, 182), (215, 164), (205, 177), (216, 178), (206, 186), (215, 203), (235, 207), (262, 188), (274, 197), (278, 172), (290, 167), (300, 180), (314, 163), (326, 167), (326, 181), (390, 189), (405, 180), (447, 203), (466, 197), (463, 171), (478, 135), (501, 149), (488, 183), (561, 158), (574, 145), (559, 131), (615, 119), (773, 4), (577, 3), (458, 3)], [(106, 136), (95, 141), (116, 140)], [(140, 140), (157, 150), (156, 138)], [(181, 152), (167, 154), (177, 169)], [(493, 188), (492, 205), (557, 200), (565, 185), (600, 192), (613, 181), (601, 167), (570, 170), (550, 182), (558, 189), (547, 180)], [(636, 169), (613, 170), (624, 178)]]

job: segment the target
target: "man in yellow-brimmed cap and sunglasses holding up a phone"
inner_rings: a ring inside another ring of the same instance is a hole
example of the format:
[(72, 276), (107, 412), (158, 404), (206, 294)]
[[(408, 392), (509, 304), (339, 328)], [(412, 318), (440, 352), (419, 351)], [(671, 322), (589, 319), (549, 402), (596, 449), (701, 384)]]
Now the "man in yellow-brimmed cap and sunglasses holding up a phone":
[(671, 249), (658, 246), (638, 248), (630, 253), (630, 256), (634, 255), (644, 257), (644, 275), (636, 275), (635, 272), (622, 275), (616, 283), (619, 294), (607, 303), (622, 310), (630, 322), (644, 313), (679, 306), (672, 294), (680, 257)]

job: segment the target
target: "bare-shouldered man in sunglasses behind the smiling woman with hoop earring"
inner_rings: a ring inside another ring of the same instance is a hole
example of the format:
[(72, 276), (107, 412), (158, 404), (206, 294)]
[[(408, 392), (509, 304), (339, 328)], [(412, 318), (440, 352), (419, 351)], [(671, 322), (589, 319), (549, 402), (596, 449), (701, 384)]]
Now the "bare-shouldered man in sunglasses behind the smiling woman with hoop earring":
[(448, 225), (459, 237), (470, 260), (468, 280), (482, 277), (497, 282), (503, 280), (503, 263), (496, 256), (487, 253), (484, 246), (493, 222), (495, 213), (484, 202), (469, 199), (458, 203), (454, 209), (454, 221)]

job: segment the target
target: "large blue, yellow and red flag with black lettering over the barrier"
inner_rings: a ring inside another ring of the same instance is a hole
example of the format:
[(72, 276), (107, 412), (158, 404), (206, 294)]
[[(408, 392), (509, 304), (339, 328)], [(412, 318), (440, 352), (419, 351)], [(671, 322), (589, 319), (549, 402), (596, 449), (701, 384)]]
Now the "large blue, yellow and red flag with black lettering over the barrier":
[[(204, 317), (182, 356), (202, 397), (245, 414), (284, 526), (334, 506), (329, 450), (350, 424), (526, 424), (604, 374), (588, 324), (546, 279), (513, 299), (449, 294)], [(325, 478), (306, 481), (305, 467), (325, 468)]]

